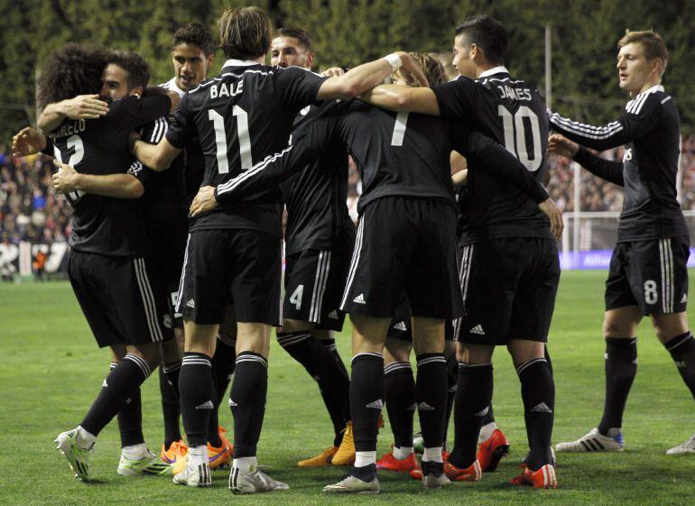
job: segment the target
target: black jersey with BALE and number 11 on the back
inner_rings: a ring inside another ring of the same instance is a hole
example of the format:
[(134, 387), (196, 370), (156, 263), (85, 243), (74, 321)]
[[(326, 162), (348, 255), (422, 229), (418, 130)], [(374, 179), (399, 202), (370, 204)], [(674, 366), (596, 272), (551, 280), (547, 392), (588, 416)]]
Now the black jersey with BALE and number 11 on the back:
[[(217, 78), (189, 90), (166, 138), (184, 148), (197, 135), (205, 157), (203, 186), (220, 187), (287, 145), (294, 117), (316, 102), (322, 78), (299, 67), (227, 60)], [(245, 228), (280, 237), (282, 194), (277, 185), (249, 193), (244, 205), (218, 207), (190, 230)]]

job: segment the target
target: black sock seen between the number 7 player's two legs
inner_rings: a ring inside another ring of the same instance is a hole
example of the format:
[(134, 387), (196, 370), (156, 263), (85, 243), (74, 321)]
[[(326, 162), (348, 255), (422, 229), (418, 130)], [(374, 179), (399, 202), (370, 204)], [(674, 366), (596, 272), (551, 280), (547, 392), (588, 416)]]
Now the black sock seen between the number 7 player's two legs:
[(412, 447), (412, 419), (417, 408), (415, 380), (410, 362), (394, 362), (384, 367), (384, 400), (394, 446)]

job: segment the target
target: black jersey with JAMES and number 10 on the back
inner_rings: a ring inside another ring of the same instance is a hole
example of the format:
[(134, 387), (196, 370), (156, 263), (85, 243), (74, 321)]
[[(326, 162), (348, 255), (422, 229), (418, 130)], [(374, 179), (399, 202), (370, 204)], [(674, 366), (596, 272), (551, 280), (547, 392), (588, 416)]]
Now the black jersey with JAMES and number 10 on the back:
[[(541, 183), (547, 172), (548, 119), (538, 91), (511, 78), (504, 67), (475, 80), (459, 77), (432, 87), (440, 115), (465, 122), (505, 146)], [(468, 213), (459, 243), (500, 237), (552, 238), (550, 221), (520, 189), (493, 169), (468, 164)]]

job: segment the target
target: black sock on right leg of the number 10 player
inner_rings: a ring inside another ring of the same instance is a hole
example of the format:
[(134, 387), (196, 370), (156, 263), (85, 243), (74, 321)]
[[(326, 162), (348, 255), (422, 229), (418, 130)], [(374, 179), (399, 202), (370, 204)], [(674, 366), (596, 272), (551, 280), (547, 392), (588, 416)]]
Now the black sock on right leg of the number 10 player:
[(516, 368), (522, 384), (524, 419), (529, 437), (526, 464), (532, 471), (552, 464), (552, 421), (555, 416), (555, 383), (544, 358), (534, 358)]

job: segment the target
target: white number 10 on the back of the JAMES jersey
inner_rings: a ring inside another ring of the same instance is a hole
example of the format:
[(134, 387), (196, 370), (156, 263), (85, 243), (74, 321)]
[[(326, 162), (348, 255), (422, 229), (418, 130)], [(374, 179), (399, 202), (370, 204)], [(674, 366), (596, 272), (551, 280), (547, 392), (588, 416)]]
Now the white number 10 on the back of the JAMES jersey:
[[(519, 159), (526, 169), (535, 172), (541, 167), (543, 160), (541, 125), (538, 123), (538, 116), (527, 106), (520, 106), (514, 115), (505, 106), (499, 106), (497, 111), (502, 116), (502, 124), (505, 128), (506, 151)], [(524, 122), (524, 118), (528, 118), (528, 122)], [(526, 124), (530, 125), (530, 132)], [(527, 141), (533, 144), (533, 158), (529, 156)]]

